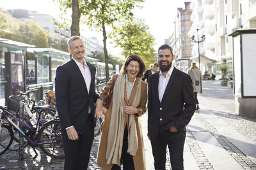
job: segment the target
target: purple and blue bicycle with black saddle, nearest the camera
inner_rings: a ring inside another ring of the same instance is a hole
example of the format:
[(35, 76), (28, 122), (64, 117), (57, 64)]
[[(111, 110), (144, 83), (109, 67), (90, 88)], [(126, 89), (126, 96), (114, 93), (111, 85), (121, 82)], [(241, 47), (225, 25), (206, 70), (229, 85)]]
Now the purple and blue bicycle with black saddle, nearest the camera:
[[(36, 159), (38, 156), (35, 146), (40, 146), (41, 150), (50, 157), (59, 159), (64, 158), (60, 120), (55, 118), (44, 124), (44, 122), (40, 120), (40, 116), (42, 115), (42, 111), (47, 110), (48, 108), (45, 108), (45, 106), (35, 106), (34, 108), (41, 111), (37, 119), (36, 127), (31, 127), (26, 124), (26, 122), (15, 117), (15, 115), (10, 113), (6, 108), (0, 106), (0, 110), (2, 110), (0, 125), (0, 155), (3, 155), (10, 145), (12, 145), (13, 131), (11, 127), (13, 127), (28, 141), (31, 148), (33, 148), (33, 151), (36, 153), (33, 159)], [(15, 124), (12, 121), (12, 118), (19, 122), (22, 127)], [(4, 120), (7, 121), (8, 124), (4, 122)], [(40, 129), (38, 129), (39, 125), (41, 125)], [(6, 139), (10, 140), (6, 141)]]

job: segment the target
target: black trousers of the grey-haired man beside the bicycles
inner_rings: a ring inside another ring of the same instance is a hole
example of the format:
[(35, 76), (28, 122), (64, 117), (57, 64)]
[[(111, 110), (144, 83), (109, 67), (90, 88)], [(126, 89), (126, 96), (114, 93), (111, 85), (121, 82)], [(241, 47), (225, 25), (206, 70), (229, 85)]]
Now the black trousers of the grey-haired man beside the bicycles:
[(65, 153), (65, 170), (81, 170), (87, 169), (88, 167), (93, 143), (94, 128), (92, 118), (88, 117), (84, 124), (86, 124), (86, 131), (82, 134), (78, 134), (79, 139), (76, 141), (68, 139), (65, 129), (61, 130)]

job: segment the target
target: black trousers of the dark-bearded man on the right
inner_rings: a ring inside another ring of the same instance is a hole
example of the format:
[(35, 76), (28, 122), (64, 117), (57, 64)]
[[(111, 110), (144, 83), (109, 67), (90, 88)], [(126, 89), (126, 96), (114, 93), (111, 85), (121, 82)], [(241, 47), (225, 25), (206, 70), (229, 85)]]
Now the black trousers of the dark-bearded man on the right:
[(169, 148), (172, 170), (183, 170), (183, 150), (186, 132), (160, 131), (157, 139), (150, 139), (156, 170), (165, 170), (166, 146)]

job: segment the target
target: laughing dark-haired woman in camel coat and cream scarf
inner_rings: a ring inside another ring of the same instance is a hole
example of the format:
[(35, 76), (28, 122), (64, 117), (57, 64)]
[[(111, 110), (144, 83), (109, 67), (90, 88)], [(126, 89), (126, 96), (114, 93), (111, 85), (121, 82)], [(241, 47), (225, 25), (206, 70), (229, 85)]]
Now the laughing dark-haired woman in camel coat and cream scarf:
[[(130, 55), (118, 74), (109, 109), (105, 108), (97, 164), (103, 169), (146, 169), (141, 123), (138, 119), (147, 103), (147, 83), (141, 81), (145, 64), (140, 57)], [(100, 96), (109, 94), (109, 80)]]

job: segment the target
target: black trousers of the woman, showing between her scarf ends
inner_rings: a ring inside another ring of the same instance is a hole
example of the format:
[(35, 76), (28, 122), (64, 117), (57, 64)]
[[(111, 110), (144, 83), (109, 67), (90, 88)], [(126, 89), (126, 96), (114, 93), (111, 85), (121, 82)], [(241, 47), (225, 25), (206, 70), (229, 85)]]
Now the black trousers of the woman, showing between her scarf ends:
[[(127, 125), (125, 126), (124, 129), (124, 138), (123, 138), (123, 148), (122, 148), (122, 155), (121, 155), (121, 162), (123, 160), (123, 169), (124, 170), (133, 170), (134, 169), (134, 162), (132, 159), (132, 155), (130, 155), (129, 153), (127, 153), (127, 149), (128, 149), (128, 129), (127, 129)], [(120, 170), (121, 167), (113, 164), (112, 169), (111, 170)]]

